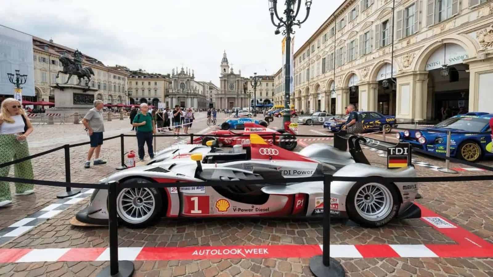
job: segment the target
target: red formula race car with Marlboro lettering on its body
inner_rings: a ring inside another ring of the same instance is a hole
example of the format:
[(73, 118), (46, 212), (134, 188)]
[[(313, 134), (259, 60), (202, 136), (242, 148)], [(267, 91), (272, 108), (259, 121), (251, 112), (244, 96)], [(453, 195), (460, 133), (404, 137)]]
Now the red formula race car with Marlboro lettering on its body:
[(201, 143), (207, 145), (207, 141), (215, 140), (213, 146), (234, 146), (234, 145), (250, 145), (250, 134), (257, 134), (265, 140), (272, 141), (273, 134), (276, 134), (275, 145), (279, 145), (286, 150), (296, 148), (296, 137), (298, 127), (296, 123), (285, 122), (284, 129), (272, 130), (262, 125), (252, 122), (245, 123), (245, 130), (214, 130), (207, 135), (225, 136), (225, 137), (209, 137), (207, 135), (200, 136), (193, 140), (193, 143)]

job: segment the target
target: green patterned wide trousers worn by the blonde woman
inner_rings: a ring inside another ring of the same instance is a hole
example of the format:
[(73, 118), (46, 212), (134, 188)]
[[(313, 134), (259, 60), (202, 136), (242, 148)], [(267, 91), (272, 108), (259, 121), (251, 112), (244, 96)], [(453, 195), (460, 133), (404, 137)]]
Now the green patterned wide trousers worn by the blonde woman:
[[(15, 135), (0, 135), (0, 164), (29, 156), (27, 140), (18, 141)], [(33, 179), (33, 165), (27, 160), (14, 165), (15, 177)], [(10, 166), (0, 168), (0, 176), (5, 177), (10, 171)], [(15, 183), (15, 192), (23, 193), (32, 190), (33, 184)], [(0, 202), (12, 200), (9, 182), (0, 182)]]

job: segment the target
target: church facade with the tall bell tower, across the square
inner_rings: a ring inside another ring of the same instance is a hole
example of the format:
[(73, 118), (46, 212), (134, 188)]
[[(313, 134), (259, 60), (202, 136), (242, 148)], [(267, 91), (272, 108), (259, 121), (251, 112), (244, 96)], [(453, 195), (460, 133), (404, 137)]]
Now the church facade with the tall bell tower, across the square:
[(248, 79), (242, 77), (241, 70), (236, 74), (233, 67), (229, 68), (226, 51), (224, 51), (220, 68), (220, 89), (216, 94), (216, 108), (248, 107), (249, 95), (246, 93), (249, 84)]

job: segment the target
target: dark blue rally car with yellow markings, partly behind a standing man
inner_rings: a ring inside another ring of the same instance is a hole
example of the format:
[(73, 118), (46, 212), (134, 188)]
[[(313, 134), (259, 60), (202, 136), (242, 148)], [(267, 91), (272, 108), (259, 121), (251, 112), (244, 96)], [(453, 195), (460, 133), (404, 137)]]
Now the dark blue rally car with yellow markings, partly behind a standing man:
[[(390, 133), (396, 122), (395, 116), (383, 115), (376, 111), (357, 111), (357, 113), (365, 131), (381, 131), (385, 129), (386, 133)], [(339, 132), (344, 123), (339, 123), (337, 120), (344, 119), (346, 121), (348, 118), (349, 114), (342, 118), (333, 117), (323, 123), (323, 128), (327, 128), (332, 132)]]

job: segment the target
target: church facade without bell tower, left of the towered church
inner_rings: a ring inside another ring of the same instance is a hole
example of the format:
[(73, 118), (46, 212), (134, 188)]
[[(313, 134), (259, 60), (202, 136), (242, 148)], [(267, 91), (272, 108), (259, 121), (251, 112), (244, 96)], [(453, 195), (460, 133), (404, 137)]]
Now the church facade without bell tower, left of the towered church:
[(194, 70), (183, 69), (178, 72), (178, 68), (172, 70), (171, 84), (166, 95), (166, 106), (175, 108), (181, 107), (206, 108), (206, 91), (204, 85), (195, 81)]

